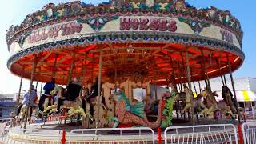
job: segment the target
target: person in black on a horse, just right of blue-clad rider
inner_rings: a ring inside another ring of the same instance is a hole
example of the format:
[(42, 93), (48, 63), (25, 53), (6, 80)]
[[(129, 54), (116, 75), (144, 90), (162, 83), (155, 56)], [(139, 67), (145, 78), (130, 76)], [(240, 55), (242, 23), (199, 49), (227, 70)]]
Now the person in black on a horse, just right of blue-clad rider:
[(62, 98), (58, 98), (57, 111), (60, 110), (60, 107), (63, 105), (64, 101), (74, 101), (76, 98), (78, 98), (81, 88), (81, 83), (78, 82), (77, 78), (74, 78), (73, 81), (70, 82), (69, 86), (66, 87), (64, 96)]

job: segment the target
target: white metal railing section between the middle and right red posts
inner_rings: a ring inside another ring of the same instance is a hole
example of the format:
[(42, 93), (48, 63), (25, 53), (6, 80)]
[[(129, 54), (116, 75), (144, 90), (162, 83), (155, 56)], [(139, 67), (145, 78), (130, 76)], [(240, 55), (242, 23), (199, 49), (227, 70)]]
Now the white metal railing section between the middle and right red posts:
[(201, 125), (201, 126), (171, 126), (164, 132), (165, 144), (203, 144), (203, 143), (236, 143), (238, 136), (232, 124)]

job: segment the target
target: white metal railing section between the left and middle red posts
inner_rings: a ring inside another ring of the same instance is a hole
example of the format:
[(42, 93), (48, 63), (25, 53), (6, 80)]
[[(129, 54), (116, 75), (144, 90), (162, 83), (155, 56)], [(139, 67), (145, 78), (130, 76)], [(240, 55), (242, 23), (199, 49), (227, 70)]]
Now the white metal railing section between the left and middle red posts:
[(82, 143), (153, 143), (154, 131), (148, 127), (78, 129), (70, 131), (69, 144)]

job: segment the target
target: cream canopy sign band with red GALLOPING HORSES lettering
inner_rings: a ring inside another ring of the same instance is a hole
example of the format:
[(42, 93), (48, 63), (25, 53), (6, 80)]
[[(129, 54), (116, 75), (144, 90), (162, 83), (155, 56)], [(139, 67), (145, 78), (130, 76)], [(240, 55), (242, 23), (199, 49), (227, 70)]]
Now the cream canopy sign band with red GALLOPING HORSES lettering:
[(234, 46), (241, 48), (236, 35), (220, 26), (207, 26), (198, 34), (195, 34), (191, 26), (186, 22), (179, 21), (178, 18), (166, 18), (155, 16), (120, 16), (118, 19), (108, 21), (101, 30), (94, 30), (90, 24), (77, 21), (62, 22), (51, 26), (45, 26), (33, 30), (26, 37), (22, 46), (10, 47), (11, 54), (17, 53), (33, 46), (39, 46), (50, 42), (65, 41), (72, 38), (90, 37), (92, 34), (111, 34), (115, 32), (148, 31), (158, 33), (190, 34), (206, 38), (214, 38), (225, 42), (230, 42)]

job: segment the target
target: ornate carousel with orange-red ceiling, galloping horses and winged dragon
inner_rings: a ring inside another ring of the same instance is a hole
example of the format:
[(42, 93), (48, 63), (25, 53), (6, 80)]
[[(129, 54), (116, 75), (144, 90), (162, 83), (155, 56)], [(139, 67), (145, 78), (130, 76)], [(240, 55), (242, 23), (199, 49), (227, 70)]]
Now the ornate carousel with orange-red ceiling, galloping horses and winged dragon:
[[(30, 85), (54, 79), (40, 118), (80, 115), (86, 129), (166, 128), (174, 110), (193, 124), (195, 112), (214, 118), (219, 111), (235, 119), (240, 118), (236, 94), (223, 75), (232, 80), (242, 66), (242, 35), (230, 11), (197, 9), (184, 0), (49, 3), (7, 31), (7, 66)], [(209, 81), (219, 76), (222, 102), (215, 100)], [(192, 84), (201, 80), (206, 88), (195, 98)], [(81, 87), (75, 98), (66, 99), (63, 87), (70, 84)], [(158, 94), (158, 86), (168, 90)], [(50, 104), (56, 94), (67, 101), (59, 110), (58, 103)], [(25, 129), (31, 107), (22, 106)]]

